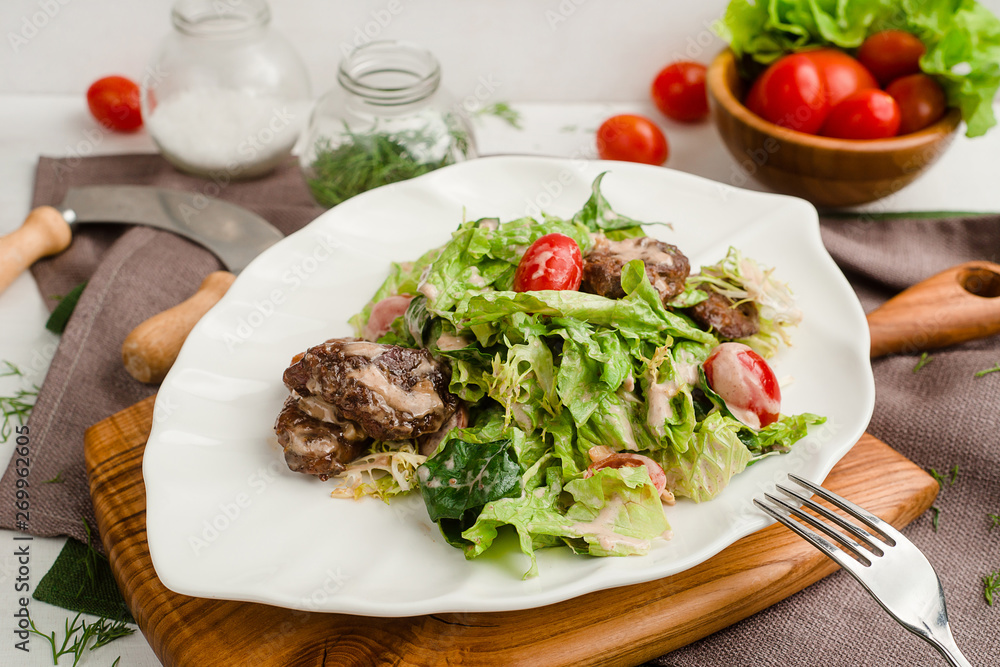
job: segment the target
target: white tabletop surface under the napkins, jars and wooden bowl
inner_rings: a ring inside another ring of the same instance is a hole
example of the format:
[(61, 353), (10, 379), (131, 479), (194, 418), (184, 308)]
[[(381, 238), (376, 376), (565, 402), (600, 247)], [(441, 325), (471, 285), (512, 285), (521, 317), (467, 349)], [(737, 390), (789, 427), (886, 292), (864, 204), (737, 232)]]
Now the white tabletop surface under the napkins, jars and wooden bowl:
[[(656, 118), (670, 142), (667, 165), (724, 183), (742, 182), (737, 163), (729, 156), (710, 124), (681, 126), (659, 116), (648, 103), (635, 104), (518, 104), (523, 129), (516, 130), (496, 118), (477, 121), (482, 154), (528, 153), (571, 158), (593, 157), (594, 130), (615, 113), (630, 111)], [(39, 155), (68, 156), (81, 153), (112, 154), (151, 152), (145, 132), (135, 135), (96, 132), (87, 115), (82, 95), (0, 95), (0, 234), (17, 228), (28, 212), (32, 179)], [(97, 141), (93, 137), (99, 137)], [(88, 139), (91, 137), (91, 139)], [(940, 162), (917, 182), (893, 197), (876, 202), (875, 210), (965, 210), (1000, 211), (1000, 131), (984, 138), (959, 137)], [(734, 179), (736, 179), (734, 181)], [(44, 329), (47, 310), (30, 275), (21, 276), (0, 295), (0, 360), (19, 364), (28, 373), (27, 382), (41, 384), (57, 337)], [(18, 387), (15, 378), (0, 378), (0, 394)], [(0, 464), (6, 465), (13, 442), (0, 443)], [(11, 499), (2, 502), (12, 502)], [(0, 664), (50, 665), (48, 646), (40, 637), (30, 641), (31, 652), (14, 648), (12, 614), (21, 594), (14, 593), (18, 564), (13, 555), (15, 533), (0, 531)], [(31, 587), (51, 567), (62, 538), (36, 538), (31, 543)], [(32, 617), (39, 628), (58, 629), (72, 616), (66, 610), (32, 600)], [(81, 665), (110, 665), (121, 656), (121, 667), (158, 665), (140, 634), (114, 642), (87, 655)], [(64, 663), (71, 660), (63, 658)]]

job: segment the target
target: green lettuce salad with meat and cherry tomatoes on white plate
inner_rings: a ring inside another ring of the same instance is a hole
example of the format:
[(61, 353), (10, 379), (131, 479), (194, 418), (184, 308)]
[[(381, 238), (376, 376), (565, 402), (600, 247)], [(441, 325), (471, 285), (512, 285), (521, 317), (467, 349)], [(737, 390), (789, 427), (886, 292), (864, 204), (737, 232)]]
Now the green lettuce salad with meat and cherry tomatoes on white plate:
[(392, 265), (351, 318), (284, 373), (275, 430), (335, 497), (419, 493), (475, 558), (505, 526), (530, 557), (645, 554), (664, 505), (710, 501), (822, 423), (783, 415), (766, 361), (801, 314), (737, 248), (693, 273), (619, 215), (602, 176), (570, 218), (463, 222)]

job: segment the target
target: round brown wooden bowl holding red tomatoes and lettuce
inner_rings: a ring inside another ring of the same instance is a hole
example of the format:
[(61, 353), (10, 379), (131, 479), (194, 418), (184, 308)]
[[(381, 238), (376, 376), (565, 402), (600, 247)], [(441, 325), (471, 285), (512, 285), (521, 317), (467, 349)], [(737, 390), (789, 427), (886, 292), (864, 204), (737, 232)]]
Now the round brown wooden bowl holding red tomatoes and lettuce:
[(733, 185), (752, 177), (817, 206), (854, 206), (909, 185), (947, 150), (961, 114), (950, 109), (933, 125), (891, 139), (832, 139), (770, 123), (743, 106), (745, 85), (730, 50), (708, 70), (712, 117), (740, 164)]

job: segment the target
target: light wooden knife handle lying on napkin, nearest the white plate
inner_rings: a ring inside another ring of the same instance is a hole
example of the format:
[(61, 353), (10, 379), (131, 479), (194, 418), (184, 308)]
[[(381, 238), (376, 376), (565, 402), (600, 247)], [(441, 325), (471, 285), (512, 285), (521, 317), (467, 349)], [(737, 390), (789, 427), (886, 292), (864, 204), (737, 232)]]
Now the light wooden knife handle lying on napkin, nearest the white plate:
[(133, 329), (122, 343), (122, 361), (129, 375), (139, 382), (162, 382), (191, 329), (234, 280), (236, 276), (228, 271), (211, 273), (190, 298)]

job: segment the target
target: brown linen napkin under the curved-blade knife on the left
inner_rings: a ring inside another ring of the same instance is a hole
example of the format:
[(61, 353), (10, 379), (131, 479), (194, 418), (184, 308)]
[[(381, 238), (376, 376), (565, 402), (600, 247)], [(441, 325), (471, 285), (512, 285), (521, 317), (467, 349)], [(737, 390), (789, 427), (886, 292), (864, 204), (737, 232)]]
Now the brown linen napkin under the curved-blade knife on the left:
[[(267, 177), (226, 183), (186, 176), (158, 155), (41, 158), (32, 206), (58, 204), (80, 185), (155, 185), (217, 197), (261, 215), (285, 234), (322, 212), (294, 160)], [(133, 380), (121, 344), (140, 322), (180, 303), (206, 275), (222, 268), (207, 250), (169, 232), (123, 225), (86, 226), (62, 254), (32, 269), (43, 296), (66, 294), (89, 280), (77, 304), (28, 422), (31, 513), (27, 532), (70, 535), (86, 543), (86, 519), (96, 526), (83, 460), (92, 424), (155, 393)], [(55, 301), (46, 299), (50, 307)], [(0, 480), (13, 498), (14, 461)], [(60, 483), (42, 484), (61, 473)], [(15, 527), (13, 503), (0, 503), (0, 526)], [(21, 528), (19, 528), (21, 529)], [(100, 547), (98, 540), (96, 546)]]

